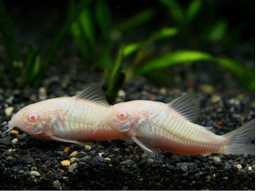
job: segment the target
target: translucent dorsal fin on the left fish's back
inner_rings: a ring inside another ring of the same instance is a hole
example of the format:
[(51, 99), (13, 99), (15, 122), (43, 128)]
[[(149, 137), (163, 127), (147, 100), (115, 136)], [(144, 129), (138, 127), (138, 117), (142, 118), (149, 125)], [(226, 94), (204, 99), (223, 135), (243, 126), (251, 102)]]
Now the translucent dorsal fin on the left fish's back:
[(82, 90), (75, 98), (86, 99), (109, 106), (105, 99), (104, 91), (98, 85), (90, 85)]

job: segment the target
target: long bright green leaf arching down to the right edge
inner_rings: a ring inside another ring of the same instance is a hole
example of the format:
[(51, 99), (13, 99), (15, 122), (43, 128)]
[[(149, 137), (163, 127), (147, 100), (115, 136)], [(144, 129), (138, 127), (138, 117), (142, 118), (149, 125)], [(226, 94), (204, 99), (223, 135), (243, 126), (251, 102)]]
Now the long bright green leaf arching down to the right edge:
[(255, 89), (255, 74), (253, 70), (249, 67), (232, 59), (214, 57), (208, 53), (201, 53), (195, 51), (177, 51), (175, 53), (167, 53), (161, 55), (145, 63), (136, 72), (137, 74), (148, 74), (156, 69), (201, 60), (207, 60), (220, 65), (222, 68), (226, 69), (230, 74), (233, 74), (241, 82), (241, 84), (244, 85), (245, 88), (249, 90)]

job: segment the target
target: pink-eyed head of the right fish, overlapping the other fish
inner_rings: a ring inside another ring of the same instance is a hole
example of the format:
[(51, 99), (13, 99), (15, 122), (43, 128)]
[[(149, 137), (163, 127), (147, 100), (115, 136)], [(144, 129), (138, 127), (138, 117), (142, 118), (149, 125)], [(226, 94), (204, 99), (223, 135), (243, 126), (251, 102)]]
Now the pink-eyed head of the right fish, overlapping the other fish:
[(109, 109), (105, 121), (112, 129), (127, 136), (132, 132), (135, 117), (127, 103), (119, 103)]

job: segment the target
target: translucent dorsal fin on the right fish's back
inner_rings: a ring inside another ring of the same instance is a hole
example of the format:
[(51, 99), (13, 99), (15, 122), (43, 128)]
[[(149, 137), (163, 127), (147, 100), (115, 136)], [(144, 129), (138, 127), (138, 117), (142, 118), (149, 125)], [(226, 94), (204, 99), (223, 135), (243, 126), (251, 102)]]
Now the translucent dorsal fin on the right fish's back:
[(198, 99), (192, 94), (179, 96), (168, 103), (168, 106), (174, 109), (182, 117), (185, 117), (192, 122), (196, 122), (200, 116)]

